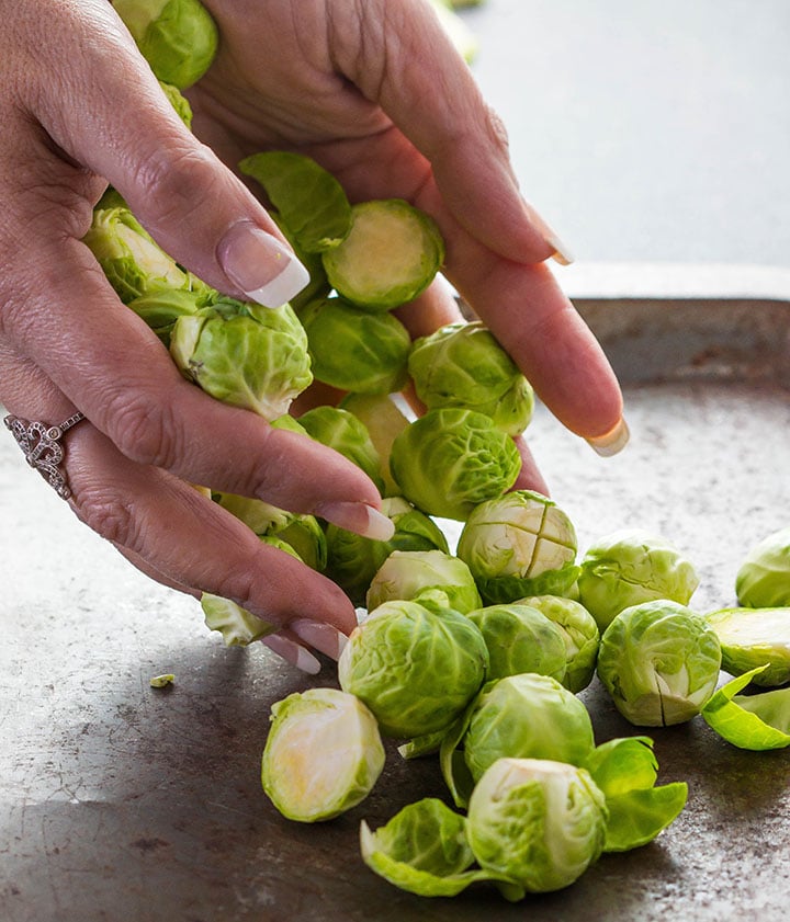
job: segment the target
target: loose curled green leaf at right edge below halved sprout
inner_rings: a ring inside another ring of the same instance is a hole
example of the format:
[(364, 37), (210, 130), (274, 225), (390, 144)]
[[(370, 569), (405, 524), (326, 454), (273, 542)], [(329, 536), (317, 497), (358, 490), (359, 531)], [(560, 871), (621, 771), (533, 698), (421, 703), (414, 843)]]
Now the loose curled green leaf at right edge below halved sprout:
[(764, 752), (790, 745), (790, 688), (738, 695), (765, 667), (732, 679), (702, 708), (706, 722), (738, 749)]

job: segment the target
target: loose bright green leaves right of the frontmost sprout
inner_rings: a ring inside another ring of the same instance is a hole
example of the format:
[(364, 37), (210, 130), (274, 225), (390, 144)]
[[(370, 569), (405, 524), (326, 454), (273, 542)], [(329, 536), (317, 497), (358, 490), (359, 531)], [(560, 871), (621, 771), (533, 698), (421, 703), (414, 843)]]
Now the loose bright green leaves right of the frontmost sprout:
[(627, 852), (652, 842), (680, 813), (685, 782), (656, 787), (658, 763), (648, 737), (621, 737), (592, 750), (585, 767), (606, 797), (605, 852)]

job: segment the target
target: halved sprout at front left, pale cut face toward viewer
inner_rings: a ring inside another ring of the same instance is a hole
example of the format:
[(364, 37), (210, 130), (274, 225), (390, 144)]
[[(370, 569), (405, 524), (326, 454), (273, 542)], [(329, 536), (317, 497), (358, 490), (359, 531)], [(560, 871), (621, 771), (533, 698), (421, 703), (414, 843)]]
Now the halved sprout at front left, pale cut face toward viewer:
[(384, 760), (375, 718), (361, 701), (308, 688), (272, 705), (261, 783), (287, 819), (329, 820), (370, 794)]

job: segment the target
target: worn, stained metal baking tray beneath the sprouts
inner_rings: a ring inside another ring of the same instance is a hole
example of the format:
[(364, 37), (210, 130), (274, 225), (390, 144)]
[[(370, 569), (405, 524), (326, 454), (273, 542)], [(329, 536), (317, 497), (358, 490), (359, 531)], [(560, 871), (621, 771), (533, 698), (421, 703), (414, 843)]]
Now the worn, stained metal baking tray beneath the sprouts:
[[(733, 604), (747, 548), (790, 515), (790, 305), (579, 298), (624, 385), (632, 440), (599, 458), (538, 407), (530, 430), (579, 547), (625, 525), (695, 560), (700, 611)], [(445, 796), (432, 759), (394, 750), (370, 798), (301, 826), (260, 788), (269, 707), (309, 684), (266, 648), (226, 649), (196, 603), (80, 525), (0, 440), (0, 919), (3, 922), (490, 922), (783, 919), (790, 751), (737, 750), (696, 718), (648, 732), (689, 803), (653, 843), (571, 888), (510, 904), (479, 887), (421, 899), (369, 872), (372, 827)], [(149, 686), (173, 672), (176, 684)], [(640, 732), (597, 680), (599, 741)]]

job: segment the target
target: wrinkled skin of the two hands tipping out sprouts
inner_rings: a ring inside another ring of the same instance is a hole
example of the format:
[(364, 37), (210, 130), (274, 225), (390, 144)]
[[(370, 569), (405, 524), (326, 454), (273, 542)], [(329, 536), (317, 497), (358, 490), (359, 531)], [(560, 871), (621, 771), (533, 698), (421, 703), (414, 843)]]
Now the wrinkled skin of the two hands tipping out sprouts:
[[(279, 234), (233, 167), (266, 148), (309, 153), (352, 198), (398, 195), (436, 217), (448, 277), (571, 430), (608, 432), (620, 390), (543, 262), (555, 244), (517, 190), (501, 126), (420, 0), (207, 7), (221, 47), (188, 92), (195, 137), (106, 0), (0, 0), (0, 400), (31, 420), (86, 413), (68, 434), (69, 502), (145, 572), (279, 625), (307, 616), (348, 633), (337, 587), (190, 485), (298, 512), (348, 503), (342, 524), (360, 530), (375, 488), (180, 377), (80, 242), (108, 182), (176, 259), (241, 296), (225, 232), (248, 220)], [(438, 284), (402, 310), (413, 335), (456, 317)], [(519, 486), (544, 488), (523, 455)], [(295, 639), (280, 637), (292, 660)]]

